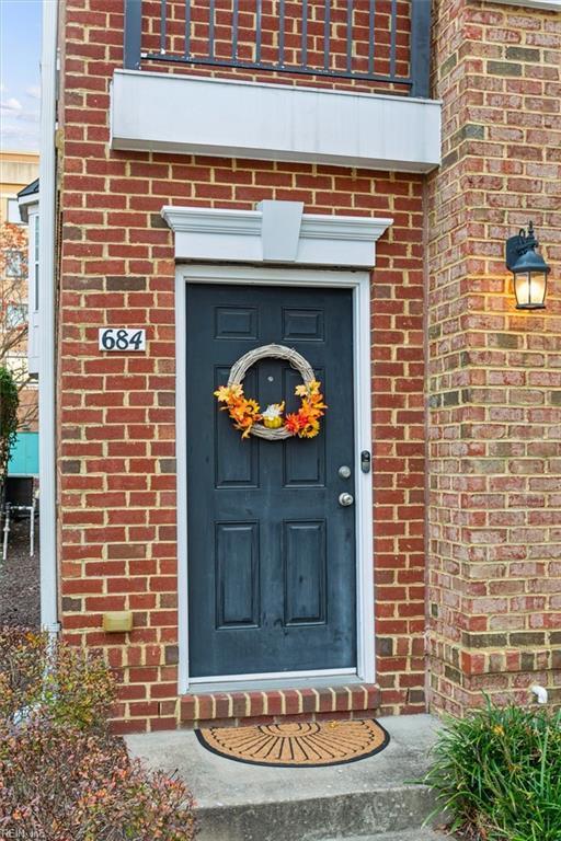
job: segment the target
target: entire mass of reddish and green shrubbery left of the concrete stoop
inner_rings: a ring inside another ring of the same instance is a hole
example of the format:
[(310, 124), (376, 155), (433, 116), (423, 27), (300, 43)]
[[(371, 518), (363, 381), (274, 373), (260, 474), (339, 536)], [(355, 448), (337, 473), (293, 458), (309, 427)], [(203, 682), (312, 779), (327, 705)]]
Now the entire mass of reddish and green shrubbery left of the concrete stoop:
[(192, 841), (193, 798), (110, 731), (99, 656), (0, 629), (0, 838)]

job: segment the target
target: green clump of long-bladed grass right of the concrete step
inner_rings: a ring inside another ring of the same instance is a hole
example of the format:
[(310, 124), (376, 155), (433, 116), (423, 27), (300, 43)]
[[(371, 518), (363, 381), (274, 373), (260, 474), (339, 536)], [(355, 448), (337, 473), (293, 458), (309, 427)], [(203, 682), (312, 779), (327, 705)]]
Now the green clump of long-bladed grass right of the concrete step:
[(560, 841), (561, 712), (488, 703), (447, 721), (423, 782), (453, 830), (482, 841)]

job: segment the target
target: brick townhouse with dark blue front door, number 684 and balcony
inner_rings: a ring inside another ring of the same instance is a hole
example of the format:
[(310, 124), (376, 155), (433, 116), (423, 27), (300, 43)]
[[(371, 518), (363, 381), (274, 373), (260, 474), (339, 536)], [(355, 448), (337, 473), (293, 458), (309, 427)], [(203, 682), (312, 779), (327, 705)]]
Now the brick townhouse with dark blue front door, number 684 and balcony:
[(122, 730), (559, 703), (559, 3), (226, 5), (44, 5), (43, 621)]

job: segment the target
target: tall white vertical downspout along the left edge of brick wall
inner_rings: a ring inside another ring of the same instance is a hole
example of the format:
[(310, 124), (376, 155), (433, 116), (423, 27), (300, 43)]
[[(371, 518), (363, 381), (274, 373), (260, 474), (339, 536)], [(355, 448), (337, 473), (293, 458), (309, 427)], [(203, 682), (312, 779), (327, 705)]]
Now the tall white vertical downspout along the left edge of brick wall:
[(39, 158), (39, 493), (41, 624), (56, 633), (55, 207), (58, 3), (43, 0)]

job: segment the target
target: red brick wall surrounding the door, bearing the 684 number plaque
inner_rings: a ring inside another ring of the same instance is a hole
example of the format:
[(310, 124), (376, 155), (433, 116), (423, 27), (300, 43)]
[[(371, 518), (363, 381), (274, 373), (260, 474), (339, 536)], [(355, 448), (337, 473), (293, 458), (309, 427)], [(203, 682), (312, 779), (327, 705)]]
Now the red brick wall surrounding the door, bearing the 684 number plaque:
[[(383, 712), (424, 710), (423, 181), (309, 164), (113, 152), (108, 84), (122, 0), (66, 3), (60, 153), (59, 551), (65, 633), (118, 670), (122, 729), (173, 726), (178, 617), (174, 262), (165, 204), (391, 216), (373, 279), (378, 681)], [(103, 356), (98, 327), (148, 326)], [(105, 635), (105, 610), (135, 614)], [(186, 644), (186, 641), (181, 641)]]

